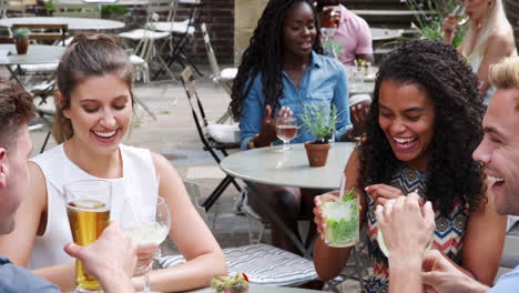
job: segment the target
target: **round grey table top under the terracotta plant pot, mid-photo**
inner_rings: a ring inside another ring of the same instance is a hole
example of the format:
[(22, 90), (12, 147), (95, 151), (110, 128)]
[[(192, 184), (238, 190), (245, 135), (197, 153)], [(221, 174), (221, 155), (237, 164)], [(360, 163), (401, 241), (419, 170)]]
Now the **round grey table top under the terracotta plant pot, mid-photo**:
[(231, 154), (222, 160), (222, 170), (235, 178), (256, 183), (308, 189), (338, 189), (340, 176), (355, 148), (353, 142), (335, 142), (325, 166), (309, 166), (303, 143), (291, 144), (292, 151), (281, 152), (281, 145), (258, 148)]

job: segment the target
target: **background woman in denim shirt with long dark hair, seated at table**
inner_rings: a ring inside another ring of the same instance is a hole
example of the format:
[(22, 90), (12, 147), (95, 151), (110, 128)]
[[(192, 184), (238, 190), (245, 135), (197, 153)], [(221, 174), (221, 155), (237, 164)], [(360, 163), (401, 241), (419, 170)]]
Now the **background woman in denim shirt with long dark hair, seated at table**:
[[(293, 115), (301, 123), (303, 108), (308, 103), (337, 108), (337, 140), (350, 128), (346, 70), (338, 61), (319, 54), (323, 49), (315, 16), (309, 0), (271, 0), (263, 11), (243, 54), (230, 107), (234, 119), (240, 120), (243, 150), (279, 144), (277, 118)], [(299, 129), (292, 142), (313, 140), (312, 133)], [(313, 198), (322, 193), (265, 184), (258, 184), (258, 190), (294, 232), (297, 219), (312, 214)], [(255, 196), (251, 192), (252, 208), (269, 220)], [(298, 253), (276, 225), (272, 226), (272, 242)]]

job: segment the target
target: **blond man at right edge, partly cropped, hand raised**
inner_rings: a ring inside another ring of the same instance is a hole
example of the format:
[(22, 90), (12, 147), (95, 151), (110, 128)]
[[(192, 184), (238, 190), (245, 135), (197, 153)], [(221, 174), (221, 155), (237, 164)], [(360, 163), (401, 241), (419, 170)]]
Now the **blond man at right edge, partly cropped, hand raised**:
[[(497, 212), (519, 215), (519, 57), (493, 65), (489, 79), (497, 91), (482, 121), (484, 139), (472, 158), (482, 165)], [(379, 228), (389, 249), (390, 292), (423, 292), (423, 284), (442, 293), (518, 292), (519, 266), (488, 287), (436, 250), (424, 257), (435, 230), (430, 206), (426, 203), (420, 208), (418, 195), (413, 193), (377, 206)], [(488, 229), (492, 229), (490, 223)]]

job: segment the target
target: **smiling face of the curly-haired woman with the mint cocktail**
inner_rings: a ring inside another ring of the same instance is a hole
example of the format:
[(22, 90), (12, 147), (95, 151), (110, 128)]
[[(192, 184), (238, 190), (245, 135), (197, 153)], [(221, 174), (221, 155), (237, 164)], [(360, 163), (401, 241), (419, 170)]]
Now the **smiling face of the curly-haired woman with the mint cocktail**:
[(426, 170), (434, 137), (435, 105), (413, 83), (383, 81), (379, 90), (378, 124), (395, 156), (408, 168)]

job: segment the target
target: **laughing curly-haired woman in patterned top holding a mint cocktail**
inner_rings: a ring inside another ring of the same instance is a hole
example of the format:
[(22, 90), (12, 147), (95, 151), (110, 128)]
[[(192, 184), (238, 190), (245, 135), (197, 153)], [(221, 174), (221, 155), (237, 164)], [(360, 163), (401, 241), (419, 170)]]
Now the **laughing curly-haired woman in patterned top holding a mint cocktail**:
[[(417, 192), (435, 210), (432, 247), (467, 274), (491, 284), (499, 266), (506, 218), (496, 213), (480, 165), (471, 158), (482, 137), (482, 98), (477, 77), (451, 47), (417, 40), (390, 52), (379, 68), (367, 115), (367, 138), (346, 165), (367, 220), (373, 274), (365, 292), (388, 291), (390, 263), (377, 242), (375, 208)], [(317, 196), (315, 222), (325, 226)], [(364, 221), (363, 221), (364, 222)], [(413, 241), (413, 240), (409, 240)], [(349, 249), (318, 240), (317, 272), (336, 276)]]

